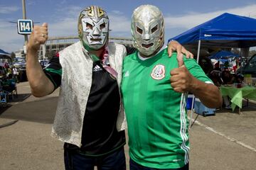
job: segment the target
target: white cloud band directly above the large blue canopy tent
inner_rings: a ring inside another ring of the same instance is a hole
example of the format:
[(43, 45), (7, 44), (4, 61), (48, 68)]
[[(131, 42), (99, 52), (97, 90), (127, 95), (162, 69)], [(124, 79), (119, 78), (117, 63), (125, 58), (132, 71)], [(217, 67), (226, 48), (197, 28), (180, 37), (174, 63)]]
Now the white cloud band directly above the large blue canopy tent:
[(241, 6), (238, 8), (229, 8), (221, 11), (213, 11), (210, 13), (188, 13), (184, 16), (165, 16), (166, 28), (193, 28), (201, 23), (204, 23), (212, 18), (219, 16), (222, 13), (233, 13), (239, 16), (253, 16), (256, 4), (250, 6)]

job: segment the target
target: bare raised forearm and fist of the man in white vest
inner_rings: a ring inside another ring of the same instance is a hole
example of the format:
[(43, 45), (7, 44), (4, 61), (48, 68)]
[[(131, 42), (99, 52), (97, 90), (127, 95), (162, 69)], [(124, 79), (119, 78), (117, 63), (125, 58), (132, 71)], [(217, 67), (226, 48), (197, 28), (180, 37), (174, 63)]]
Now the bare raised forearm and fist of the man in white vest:
[(38, 50), (47, 38), (48, 26), (47, 23), (43, 23), (42, 26), (34, 26), (27, 44), (26, 74), (31, 86), (31, 93), (36, 97), (46, 96), (55, 89), (38, 62)]

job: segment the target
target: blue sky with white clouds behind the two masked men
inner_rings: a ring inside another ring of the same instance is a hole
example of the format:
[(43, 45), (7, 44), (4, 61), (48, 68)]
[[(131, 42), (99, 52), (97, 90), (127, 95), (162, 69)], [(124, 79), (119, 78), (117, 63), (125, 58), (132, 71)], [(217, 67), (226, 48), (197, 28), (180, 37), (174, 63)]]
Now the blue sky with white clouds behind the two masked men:
[[(16, 22), (22, 19), (21, 0), (0, 1), (0, 49), (14, 52), (23, 47), (23, 35), (18, 35)], [(110, 18), (110, 36), (131, 37), (132, 11), (139, 5), (158, 6), (166, 22), (165, 40), (189, 28), (215, 18), (222, 13), (256, 18), (256, 0), (26, 0), (26, 16), (36, 24), (48, 23), (49, 36), (77, 35), (78, 15), (82, 8), (101, 6)]]

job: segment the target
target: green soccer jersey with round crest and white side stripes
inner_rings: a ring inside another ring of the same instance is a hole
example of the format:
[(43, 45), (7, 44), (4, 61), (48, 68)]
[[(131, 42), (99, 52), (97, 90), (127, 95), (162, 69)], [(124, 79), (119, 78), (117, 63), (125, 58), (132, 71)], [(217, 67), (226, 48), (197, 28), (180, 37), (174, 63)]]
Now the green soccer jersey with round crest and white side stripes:
[[(183, 58), (197, 79), (211, 82), (195, 60)], [(174, 91), (170, 71), (178, 67), (167, 49), (147, 60), (138, 53), (124, 58), (122, 97), (127, 116), (129, 155), (134, 162), (156, 169), (176, 169), (188, 163), (186, 97)]]

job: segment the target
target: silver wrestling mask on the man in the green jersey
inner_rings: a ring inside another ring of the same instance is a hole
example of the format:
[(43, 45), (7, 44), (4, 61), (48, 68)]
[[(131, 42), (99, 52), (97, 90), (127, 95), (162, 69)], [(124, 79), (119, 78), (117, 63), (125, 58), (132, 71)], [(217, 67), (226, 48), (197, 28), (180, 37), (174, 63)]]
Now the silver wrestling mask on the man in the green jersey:
[(132, 38), (140, 54), (150, 57), (164, 45), (164, 17), (156, 6), (142, 5), (132, 14)]

